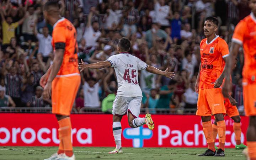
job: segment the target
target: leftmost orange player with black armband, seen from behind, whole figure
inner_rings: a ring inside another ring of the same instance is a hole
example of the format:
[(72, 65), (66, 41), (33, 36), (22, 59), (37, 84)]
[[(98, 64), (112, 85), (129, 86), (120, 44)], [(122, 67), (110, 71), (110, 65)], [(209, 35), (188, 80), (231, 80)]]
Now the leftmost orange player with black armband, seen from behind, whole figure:
[(69, 20), (60, 16), (57, 1), (46, 2), (43, 14), (46, 22), (53, 26), (55, 56), (40, 85), (44, 87), (43, 98), (48, 99), (52, 95), (52, 113), (58, 119), (60, 139), (58, 152), (46, 160), (74, 160), (69, 116), (81, 81), (76, 29)]

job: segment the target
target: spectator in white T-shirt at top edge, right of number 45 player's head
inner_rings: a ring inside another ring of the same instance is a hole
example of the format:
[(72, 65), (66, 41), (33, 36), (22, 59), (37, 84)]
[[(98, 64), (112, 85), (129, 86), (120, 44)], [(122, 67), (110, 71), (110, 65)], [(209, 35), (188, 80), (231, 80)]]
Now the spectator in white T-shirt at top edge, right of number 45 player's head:
[(154, 0), (156, 22), (160, 23), (162, 29), (170, 26), (169, 15), (171, 14), (170, 6), (165, 5), (165, 0)]

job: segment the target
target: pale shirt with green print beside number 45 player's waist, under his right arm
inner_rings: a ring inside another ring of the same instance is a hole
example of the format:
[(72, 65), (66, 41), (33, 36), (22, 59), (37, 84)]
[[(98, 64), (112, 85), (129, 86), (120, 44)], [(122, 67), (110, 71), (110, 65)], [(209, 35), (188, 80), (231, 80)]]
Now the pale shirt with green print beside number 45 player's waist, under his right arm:
[(155, 88), (156, 74), (150, 73), (146, 70), (140, 72), (140, 88), (143, 92), (149, 94), (150, 90)]

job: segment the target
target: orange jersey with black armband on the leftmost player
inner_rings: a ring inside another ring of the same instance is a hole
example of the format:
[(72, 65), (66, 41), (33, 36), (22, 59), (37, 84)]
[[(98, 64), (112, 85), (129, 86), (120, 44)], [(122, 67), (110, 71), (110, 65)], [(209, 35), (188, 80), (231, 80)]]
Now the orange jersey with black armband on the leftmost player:
[(55, 49), (64, 49), (63, 62), (57, 77), (80, 75), (78, 70), (78, 45), (76, 29), (66, 18), (61, 18), (53, 26), (52, 46)]

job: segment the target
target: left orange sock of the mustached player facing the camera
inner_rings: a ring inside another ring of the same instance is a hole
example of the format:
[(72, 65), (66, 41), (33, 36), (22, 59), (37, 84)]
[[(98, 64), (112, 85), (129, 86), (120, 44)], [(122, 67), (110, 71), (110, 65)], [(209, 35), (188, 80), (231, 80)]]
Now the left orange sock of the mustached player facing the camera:
[(213, 142), (212, 121), (203, 122), (203, 132), (204, 132), (204, 136), (206, 137), (208, 149), (215, 151), (214, 142)]

